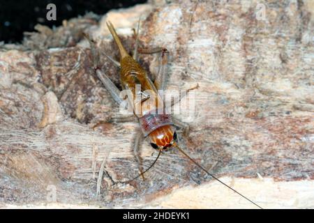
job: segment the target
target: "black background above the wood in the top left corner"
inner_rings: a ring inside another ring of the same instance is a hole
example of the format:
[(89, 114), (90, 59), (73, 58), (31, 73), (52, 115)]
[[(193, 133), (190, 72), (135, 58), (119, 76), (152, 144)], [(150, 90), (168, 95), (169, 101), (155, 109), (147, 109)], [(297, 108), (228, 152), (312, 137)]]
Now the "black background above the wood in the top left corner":
[[(0, 41), (5, 43), (21, 42), (24, 31), (33, 31), (36, 24), (60, 26), (63, 20), (93, 12), (98, 15), (113, 8), (128, 8), (146, 0), (0, 0)], [(54, 3), (57, 20), (48, 21), (47, 5)]]

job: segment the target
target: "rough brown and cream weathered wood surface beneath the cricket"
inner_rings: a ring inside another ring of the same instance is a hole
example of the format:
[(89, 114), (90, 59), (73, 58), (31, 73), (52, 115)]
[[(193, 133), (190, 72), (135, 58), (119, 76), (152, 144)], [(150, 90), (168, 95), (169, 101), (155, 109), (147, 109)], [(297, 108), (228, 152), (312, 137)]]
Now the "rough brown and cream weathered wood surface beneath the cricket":
[[(39, 27), (23, 45), (3, 45), (0, 206), (254, 208), (176, 151), (144, 182), (112, 185), (138, 173), (138, 124), (112, 122), (123, 115), (94, 76), (82, 32), (118, 56), (105, 21), (133, 49), (130, 28), (142, 15), (140, 43), (171, 52), (168, 89), (200, 85), (189, 137), (181, 137), (186, 151), (264, 208), (314, 208), (313, 2), (263, 1), (264, 20), (257, 3), (151, 1), (99, 22), (87, 15), (55, 31)], [(100, 61), (119, 85), (117, 68)], [(154, 56), (140, 61), (157, 68)], [(145, 168), (156, 152), (144, 143), (141, 155)]]

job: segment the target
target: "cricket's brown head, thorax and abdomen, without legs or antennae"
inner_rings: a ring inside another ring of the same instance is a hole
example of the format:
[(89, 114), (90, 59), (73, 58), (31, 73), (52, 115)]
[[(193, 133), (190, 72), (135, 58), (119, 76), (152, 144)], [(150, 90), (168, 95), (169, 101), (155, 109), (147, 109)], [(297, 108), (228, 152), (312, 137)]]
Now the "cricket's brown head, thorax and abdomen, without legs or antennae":
[[(144, 137), (149, 136), (152, 146), (165, 150), (174, 143), (175, 131), (172, 126), (171, 116), (165, 114), (163, 99), (158, 94), (156, 86), (151, 82), (145, 70), (126, 52), (112, 24), (108, 23), (107, 26), (119, 47), (121, 86), (132, 92), (131, 103), (139, 94), (149, 91), (149, 98), (135, 101), (135, 108), (133, 109), (133, 112), (139, 118)], [(140, 89), (137, 89), (137, 84), (139, 84)], [(136, 110), (136, 107), (140, 107), (140, 112)]]

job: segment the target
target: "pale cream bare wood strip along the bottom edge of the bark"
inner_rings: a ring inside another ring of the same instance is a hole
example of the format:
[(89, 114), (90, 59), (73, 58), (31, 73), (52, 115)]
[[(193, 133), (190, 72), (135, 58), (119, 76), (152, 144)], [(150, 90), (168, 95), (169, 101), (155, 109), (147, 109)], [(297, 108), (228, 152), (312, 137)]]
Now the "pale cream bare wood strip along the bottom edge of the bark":
[[(298, 180), (276, 182), (271, 178), (220, 178), (253, 200), (262, 208), (314, 208), (314, 180)], [(33, 203), (6, 204), (0, 203), (0, 208), (108, 208), (93, 203)], [(111, 207), (110, 207), (111, 208)], [(174, 188), (170, 194), (141, 203), (130, 203), (129, 206), (114, 206), (113, 208), (257, 208), (246, 199), (227, 189), (216, 181), (204, 183), (195, 187), (189, 185)]]

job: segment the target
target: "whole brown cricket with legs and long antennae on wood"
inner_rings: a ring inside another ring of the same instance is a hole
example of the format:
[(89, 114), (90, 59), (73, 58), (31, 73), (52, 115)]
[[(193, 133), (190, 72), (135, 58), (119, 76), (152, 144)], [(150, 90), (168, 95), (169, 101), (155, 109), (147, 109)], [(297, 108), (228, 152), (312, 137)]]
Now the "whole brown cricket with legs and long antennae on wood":
[[(112, 23), (107, 22), (107, 28), (112, 34), (114, 42), (117, 44), (117, 47), (119, 49), (120, 61), (112, 59), (112, 57), (108, 56), (107, 54), (105, 54), (105, 56), (107, 56), (107, 58), (110, 59), (112, 63), (114, 63), (116, 66), (120, 68), (120, 82), (122, 89), (128, 90), (127, 99), (131, 105), (134, 105), (133, 114), (135, 114), (135, 116), (137, 117), (140, 123), (140, 128), (142, 130), (141, 132), (137, 133), (134, 146), (135, 158), (137, 162), (139, 162), (140, 174), (135, 178), (122, 183), (128, 183), (141, 176), (144, 180), (144, 174), (147, 171), (149, 171), (151, 167), (154, 166), (160, 155), (165, 151), (169, 151), (170, 149), (175, 148), (177, 149), (177, 151), (181, 153), (181, 155), (184, 155), (184, 157), (188, 158), (190, 162), (193, 162), (193, 164), (195, 164), (198, 168), (202, 169), (202, 171), (204, 171), (208, 176), (211, 176), (211, 178), (214, 178), (219, 183), (225, 185), (225, 187), (229, 188), (230, 190), (239, 194), (247, 201), (253, 203), (255, 206), (262, 209), (262, 207), (259, 206), (257, 203), (255, 203), (251, 199), (248, 199), (243, 194), (237, 192), (237, 190), (234, 190), (232, 187), (219, 180), (216, 176), (209, 173), (207, 169), (202, 167), (201, 164), (196, 162), (192, 157), (190, 157), (190, 155), (188, 155), (188, 153), (186, 153), (186, 151), (184, 151), (181, 148), (181, 146), (179, 146), (179, 139), (177, 137), (175, 126), (179, 128), (184, 128), (186, 127), (186, 124), (181, 123), (181, 121), (177, 120), (177, 118), (172, 117), (170, 114), (166, 114), (165, 101), (163, 100), (162, 95), (160, 95), (159, 93), (159, 90), (164, 91), (167, 86), (166, 83), (167, 62), (169, 52), (167, 51), (167, 49), (163, 47), (158, 47), (151, 50), (140, 50), (138, 41), (139, 27), (140, 21), (137, 24), (137, 31), (135, 32), (135, 29), (133, 29), (135, 33), (135, 49), (133, 56), (130, 56), (126, 49), (124, 48), (124, 45), (122, 45), (121, 40), (117, 35), (117, 32), (114, 29)], [(100, 66), (98, 64), (99, 54), (96, 49), (96, 46), (94, 45), (94, 42), (89, 38), (89, 36), (85, 35), (85, 37), (87, 38), (87, 40), (89, 40), (89, 44), (91, 46), (91, 55), (93, 57), (93, 65), (97, 77), (103, 83), (105, 89), (107, 89), (107, 91), (109, 91), (109, 93), (112, 95), (114, 101), (117, 102), (118, 105), (122, 105), (122, 103), (125, 102), (126, 98), (120, 97), (121, 91), (117, 88), (117, 86), (114, 85), (110, 78), (107, 75), (105, 75), (105, 73), (100, 69)], [(145, 72), (142, 66), (140, 66), (140, 63), (137, 62), (137, 56), (140, 52), (142, 54), (159, 53), (161, 56), (160, 68), (158, 70), (154, 82), (151, 81), (151, 79), (149, 79), (147, 72)], [(197, 87), (198, 86), (196, 86), (195, 88)], [(188, 91), (193, 90), (195, 88), (188, 89)], [(147, 94), (147, 91), (149, 91), (149, 94)], [(140, 100), (134, 100), (134, 98), (138, 99), (139, 96)], [(149, 168), (143, 171), (142, 165), (140, 164), (140, 157), (137, 151), (139, 150), (140, 144), (142, 143), (144, 138), (150, 139), (150, 145), (156, 151), (158, 151), (158, 155), (154, 162), (149, 166)]]

